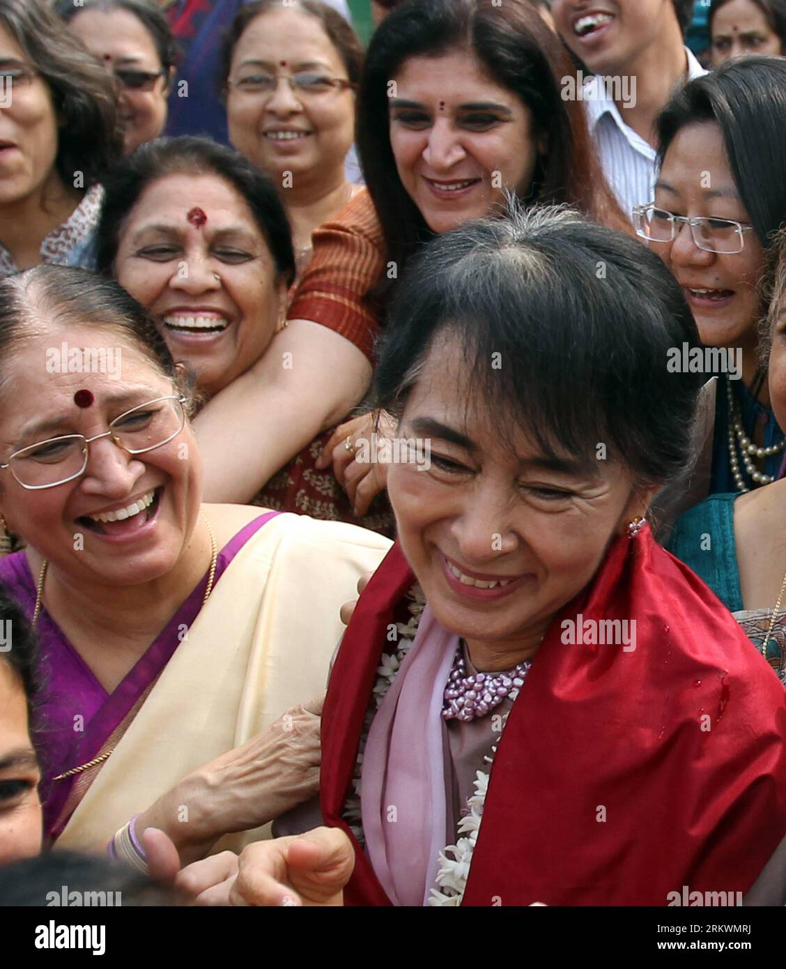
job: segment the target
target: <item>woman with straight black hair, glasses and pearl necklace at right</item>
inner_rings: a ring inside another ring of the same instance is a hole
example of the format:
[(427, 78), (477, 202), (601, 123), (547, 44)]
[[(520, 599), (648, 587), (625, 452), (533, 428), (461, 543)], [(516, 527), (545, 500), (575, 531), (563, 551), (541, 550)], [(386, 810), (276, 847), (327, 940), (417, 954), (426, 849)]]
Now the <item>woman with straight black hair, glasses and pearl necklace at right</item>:
[(720, 368), (700, 466), (710, 494), (748, 491), (772, 481), (786, 448), (759, 354), (786, 219), (786, 60), (745, 58), (690, 81), (660, 115), (658, 141), (655, 197), (634, 210), (637, 232), (677, 277), (702, 342), (735, 364)]

